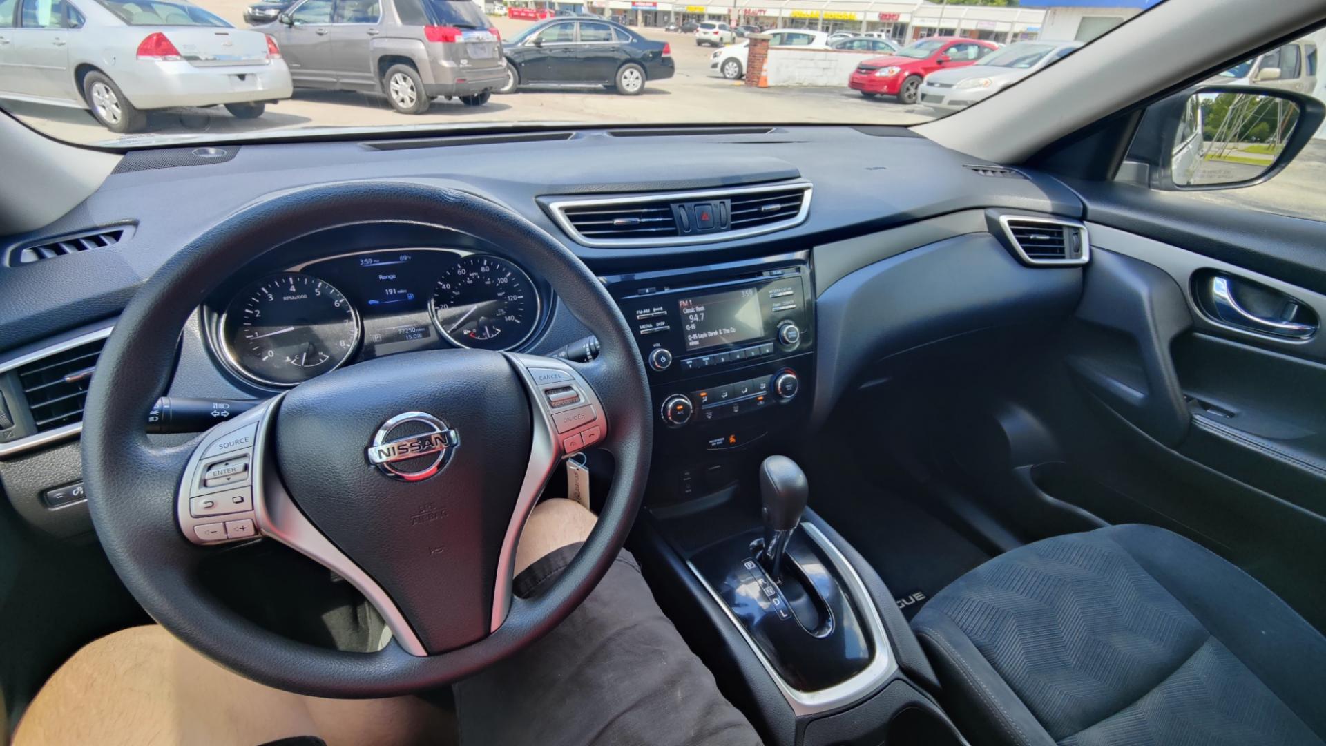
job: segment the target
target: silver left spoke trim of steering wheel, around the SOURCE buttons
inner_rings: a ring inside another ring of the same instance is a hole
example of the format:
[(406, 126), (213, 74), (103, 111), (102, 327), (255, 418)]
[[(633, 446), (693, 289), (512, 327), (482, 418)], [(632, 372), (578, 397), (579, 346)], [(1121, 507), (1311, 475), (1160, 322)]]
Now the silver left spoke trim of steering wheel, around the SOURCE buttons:
[[(271, 536), (335, 572), (350, 583), (350, 585), (354, 585), (378, 609), (387, 629), (391, 631), (391, 634), (396, 638), (402, 649), (412, 656), (427, 656), (428, 650), (424, 649), (423, 642), (419, 641), (419, 636), (415, 634), (410, 623), (406, 621), (406, 616), (400, 613), (400, 609), (391, 600), (391, 596), (313, 526), (300, 511), (298, 506), (294, 504), (289, 492), (285, 491), (285, 486), (281, 485), (276, 469), (269, 466), (271, 430), (272, 423), (276, 421), (273, 413), (284, 396), (280, 394), (271, 398), (235, 419), (212, 427), (203, 437), (199, 446), (194, 449), (194, 455), (184, 469), (184, 479), (176, 495), (176, 515), (179, 516), (184, 538), (195, 544), (220, 544), (244, 539), (252, 540), (259, 535)], [(252, 434), (249, 434), (251, 427)], [(202, 475), (204, 471), (202, 466), (204, 462), (211, 463), (219, 458), (239, 459), (241, 457), (249, 459), (249, 478), (245, 481), (244, 487), (229, 486), (229, 490), (223, 487), (220, 491), (211, 487), (200, 487), (203, 485)], [(199, 490), (213, 490), (204, 492), (203, 496), (208, 496), (228, 495), (245, 487), (252, 490), (249, 511), (203, 519), (194, 518), (192, 503), (190, 500), (199, 499), (196, 496)], [(256, 523), (256, 531), (241, 538), (221, 536), (219, 539), (203, 539), (196, 531), (199, 524), (219, 523), (224, 527), (229, 522), (245, 519)]]

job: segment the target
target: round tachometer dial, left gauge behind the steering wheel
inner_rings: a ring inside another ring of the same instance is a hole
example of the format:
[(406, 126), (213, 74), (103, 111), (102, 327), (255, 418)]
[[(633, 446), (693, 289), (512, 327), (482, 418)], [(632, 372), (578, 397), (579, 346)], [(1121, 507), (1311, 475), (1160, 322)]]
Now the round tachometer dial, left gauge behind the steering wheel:
[(221, 317), (221, 344), (231, 364), (273, 386), (334, 370), (358, 341), (359, 316), (341, 291), (297, 272), (248, 285)]

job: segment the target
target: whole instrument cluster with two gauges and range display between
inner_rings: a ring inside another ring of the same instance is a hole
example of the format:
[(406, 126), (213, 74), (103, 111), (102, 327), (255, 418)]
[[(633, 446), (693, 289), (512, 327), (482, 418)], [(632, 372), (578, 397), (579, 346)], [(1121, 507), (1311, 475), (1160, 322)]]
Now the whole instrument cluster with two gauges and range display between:
[(538, 288), (509, 259), (452, 248), (366, 251), (248, 283), (216, 320), (213, 345), (236, 374), (288, 388), (398, 352), (517, 349), (541, 311)]

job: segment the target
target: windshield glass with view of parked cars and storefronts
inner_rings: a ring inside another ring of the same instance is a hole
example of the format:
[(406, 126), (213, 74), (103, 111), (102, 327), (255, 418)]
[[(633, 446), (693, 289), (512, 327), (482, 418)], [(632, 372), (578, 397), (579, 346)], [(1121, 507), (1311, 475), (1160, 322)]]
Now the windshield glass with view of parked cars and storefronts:
[[(508, 127), (911, 126), (1028, 85), (1069, 50), (1128, 35), (1160, 1), (0, 0), (0, 109), (50, 137), (117, 149)], [(66, 44), (46, 44), (50, 29), (68, 29)], [(1285, 49), (1261, 64), (1278, 80), (1248, 65), (1227, 74), (1311, 90), (1315, 46)], [(1021, 78), (927, 85), (971, 65)]]

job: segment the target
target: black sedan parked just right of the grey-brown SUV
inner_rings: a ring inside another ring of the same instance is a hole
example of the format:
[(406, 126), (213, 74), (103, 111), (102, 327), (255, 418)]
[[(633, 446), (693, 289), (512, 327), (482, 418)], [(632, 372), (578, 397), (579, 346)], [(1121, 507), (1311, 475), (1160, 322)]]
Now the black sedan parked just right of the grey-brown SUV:
[(644, 81), (674, 72), (666, 41), (650, 41), (610, 21), (549, 19), (505, 42), (503, 52), (507, 85), (497, 93), (514, 93), (522, 85), (602, 85), (638, 96)]

